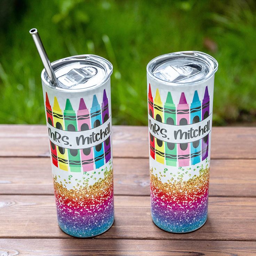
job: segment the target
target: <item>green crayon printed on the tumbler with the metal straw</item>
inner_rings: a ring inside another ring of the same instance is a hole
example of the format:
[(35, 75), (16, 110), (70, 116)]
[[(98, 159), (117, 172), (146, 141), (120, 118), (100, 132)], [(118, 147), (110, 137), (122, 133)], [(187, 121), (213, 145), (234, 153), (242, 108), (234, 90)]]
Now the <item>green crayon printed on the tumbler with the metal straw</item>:
[[(69, 99), (66, 100), (63, 114), (66, 130), (77, 131), (77, 117)], [(79, 173), (81, 171), (80, 151), (78, 149), (68, 149), (67, 152), (69, 155), (70, 171)]]

